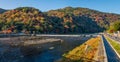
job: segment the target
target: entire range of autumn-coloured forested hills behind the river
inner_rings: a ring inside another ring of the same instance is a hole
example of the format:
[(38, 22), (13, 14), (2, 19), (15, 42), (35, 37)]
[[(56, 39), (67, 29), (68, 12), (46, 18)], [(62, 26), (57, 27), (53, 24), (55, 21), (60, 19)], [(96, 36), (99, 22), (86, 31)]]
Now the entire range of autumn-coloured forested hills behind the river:
[(76, 34), (102, 32), (120, 15), (88, 8), (66, 7), (41, 12), (33, 7), (19, 7), (0, 14), (0, 30), (12, 32)]

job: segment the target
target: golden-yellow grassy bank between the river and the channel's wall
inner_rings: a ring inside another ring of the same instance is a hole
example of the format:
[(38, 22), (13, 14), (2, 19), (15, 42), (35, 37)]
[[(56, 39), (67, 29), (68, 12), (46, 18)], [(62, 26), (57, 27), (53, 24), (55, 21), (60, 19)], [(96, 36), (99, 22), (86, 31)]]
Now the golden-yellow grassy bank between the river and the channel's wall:
[(91, 38), (82, 45), (74, 48), (72, 51), (64, 54), (62, 62), (88, 62), (93, 61), (98, 50), (100, 37)]

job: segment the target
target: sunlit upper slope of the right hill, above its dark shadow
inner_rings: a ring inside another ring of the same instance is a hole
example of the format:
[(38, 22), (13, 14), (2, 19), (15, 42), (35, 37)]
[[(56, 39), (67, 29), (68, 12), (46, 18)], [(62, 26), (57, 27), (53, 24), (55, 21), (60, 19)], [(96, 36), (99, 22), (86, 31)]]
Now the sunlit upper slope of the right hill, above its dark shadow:
[(64, 17), (65, 15), (85, 16), (87, 18), (91, 18), (100, 27), (104, 29), (108, 28), (110, 23), (120, 19), (120, 15), (118, 14), (105, 13), (105, 12), (100, 12), (97, 10), (81, 8), (81, 7), (77, 7), (77, 8), (66, 7), (58, 10), (51, 10), (48, 12), (48, 15), (57, 16), (60, 18)]

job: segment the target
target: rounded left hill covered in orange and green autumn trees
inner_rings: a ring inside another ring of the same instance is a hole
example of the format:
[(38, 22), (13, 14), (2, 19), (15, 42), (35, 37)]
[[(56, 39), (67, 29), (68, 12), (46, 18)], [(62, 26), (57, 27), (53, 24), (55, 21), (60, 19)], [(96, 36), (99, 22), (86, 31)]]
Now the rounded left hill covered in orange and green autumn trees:
[(47, 23), (46, 17), (38, 9), (32, 7), (19, 7), (9, 10), (0, 15), (0, 30), (11, 30), (12, 32), (40, 31)]

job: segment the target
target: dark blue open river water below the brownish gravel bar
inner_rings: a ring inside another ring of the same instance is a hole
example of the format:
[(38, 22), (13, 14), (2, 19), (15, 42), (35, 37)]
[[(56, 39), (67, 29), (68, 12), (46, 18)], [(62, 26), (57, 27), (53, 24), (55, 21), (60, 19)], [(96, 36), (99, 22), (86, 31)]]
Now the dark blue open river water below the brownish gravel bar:
[(60, 59), (64, 53), (84, 43), (90, 37), (57, 38), (62, 39), (63, 43), (46, 43), (42, 44), (42, 47), (40, 44), (13, 47), (2, 40), (0, 42), (0, 62), (54, 62)]

